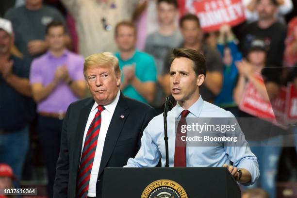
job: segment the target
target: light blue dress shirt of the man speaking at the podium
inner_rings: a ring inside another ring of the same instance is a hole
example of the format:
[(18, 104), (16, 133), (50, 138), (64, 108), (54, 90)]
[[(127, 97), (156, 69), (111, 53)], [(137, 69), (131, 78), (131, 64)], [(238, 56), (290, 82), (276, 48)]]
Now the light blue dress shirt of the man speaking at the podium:
[[(167, 115), (169, 166), (173, 167), (175, 150), (175, 118), (181, 117), (184, 109), (177, 104)], [(234, 117), (229, 111), (225, 111), (209, 102), (203, 101), (201, 96), (188, 109), (187, 117)], [(164, 141), (163, 115), (154, 117), (143, 132), (141, 148), (135, 158), (130, 158), (125, 167), (154, 167), (162, 157), (162, 166), (165, 166), (165, 141)], [(187, 147), (186, 164), (188, 167), (221, 167), (224, 164), (245, 168), (251, 174), (251, 182), (259, 177), (259, 165), (256, 156), (250, 151), (243, 132), (239, 131), (244, 145), (240, 147)]]

